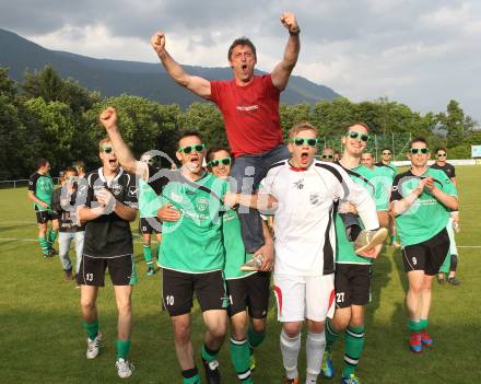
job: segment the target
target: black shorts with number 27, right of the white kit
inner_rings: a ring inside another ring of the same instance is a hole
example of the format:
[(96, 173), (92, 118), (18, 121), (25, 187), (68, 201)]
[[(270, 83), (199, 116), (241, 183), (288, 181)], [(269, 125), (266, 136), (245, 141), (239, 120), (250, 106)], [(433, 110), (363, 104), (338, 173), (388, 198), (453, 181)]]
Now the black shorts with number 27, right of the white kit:
[(336, 264), (336, 307), (366, 305), (369, 302), (371, 265)]

